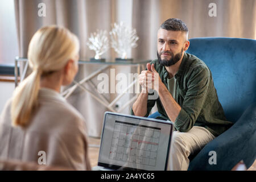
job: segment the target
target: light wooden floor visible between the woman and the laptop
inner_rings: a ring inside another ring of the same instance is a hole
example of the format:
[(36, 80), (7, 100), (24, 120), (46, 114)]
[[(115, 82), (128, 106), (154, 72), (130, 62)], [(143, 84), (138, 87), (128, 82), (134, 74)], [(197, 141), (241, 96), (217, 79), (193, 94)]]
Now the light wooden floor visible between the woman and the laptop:
[[(99, 138), (92, 138), (89, 137), (89, 158), (90, 158), (90, 164), (92, 167), (97, 166), (98, 163), (98, 152), (100, 148), (96, 147), (100, 145), (100, 139)], [(256, 171), (256, 160), (253, 163), (253, 165), (247, 169), (247, 171)]]

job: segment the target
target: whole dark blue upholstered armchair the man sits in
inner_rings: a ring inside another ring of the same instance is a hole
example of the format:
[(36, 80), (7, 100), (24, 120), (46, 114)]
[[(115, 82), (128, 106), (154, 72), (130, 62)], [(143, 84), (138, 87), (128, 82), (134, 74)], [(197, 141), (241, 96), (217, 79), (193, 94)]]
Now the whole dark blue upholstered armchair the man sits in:
[[(256, 40), (193, 38), (189, 41), (187, 52), (210, 68), (226, 118), (234, 125), (194, 156), (188, 170), (230, 170), (241, 160), (249, 168), (256, 158)], [(216, 151), (217, 164), (209, 164), (210, 151)]]

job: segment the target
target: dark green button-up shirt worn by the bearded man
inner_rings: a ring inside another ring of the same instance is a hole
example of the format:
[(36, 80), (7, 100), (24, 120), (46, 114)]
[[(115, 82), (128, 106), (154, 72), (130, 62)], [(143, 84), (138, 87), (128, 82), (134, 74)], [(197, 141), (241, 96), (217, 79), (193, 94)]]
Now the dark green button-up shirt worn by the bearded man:
[[(150, 64), (152, 63), (168, 88), (166, 68), (160, 65), (158, 60), (151, 61)], [(232, 122), (226, 121), (213, 84), (212, 73), (202, 60), (185, 52), (175, 79), (175, 100), (181, 107), (174, 121), (176, 130), (187, 132), (193, 126), (202, 126), (217, 137), (233, 125)], [(147, 101), (147, 114), (144, 117), (148, 117), (155, 102), (161, 114), (157, 119), (170, 120), (159, 97)], [(133, 109), (131, 114), (134, 115)]]

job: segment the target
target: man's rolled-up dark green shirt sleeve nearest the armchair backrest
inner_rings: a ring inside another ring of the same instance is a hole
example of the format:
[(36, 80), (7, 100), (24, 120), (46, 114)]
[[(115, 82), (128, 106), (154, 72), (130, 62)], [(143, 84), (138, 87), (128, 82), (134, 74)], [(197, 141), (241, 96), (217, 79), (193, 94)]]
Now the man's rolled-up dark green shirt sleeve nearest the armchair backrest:
[(210, 71), (207, 67), (194, 68), (187, 82), (187, 92), (177, 118), (175, 128), (181, 132), (189, 131), (201, 112), (209, 90)]

